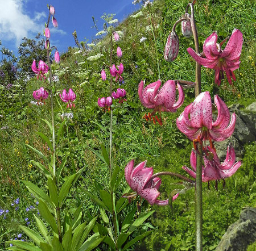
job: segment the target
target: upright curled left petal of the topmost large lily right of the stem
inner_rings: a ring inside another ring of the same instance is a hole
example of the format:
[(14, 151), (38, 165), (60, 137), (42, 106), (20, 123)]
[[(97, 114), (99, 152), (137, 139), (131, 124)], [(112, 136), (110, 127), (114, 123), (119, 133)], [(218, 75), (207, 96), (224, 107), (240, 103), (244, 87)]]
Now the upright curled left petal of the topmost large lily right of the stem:
[(209, 59), (216, 59), (221, 55), (220, 46), (217, 47), (218, 35), (214, 31), (212, 35), (208, 36), (204, 41), (203, 51), (205, 57)]

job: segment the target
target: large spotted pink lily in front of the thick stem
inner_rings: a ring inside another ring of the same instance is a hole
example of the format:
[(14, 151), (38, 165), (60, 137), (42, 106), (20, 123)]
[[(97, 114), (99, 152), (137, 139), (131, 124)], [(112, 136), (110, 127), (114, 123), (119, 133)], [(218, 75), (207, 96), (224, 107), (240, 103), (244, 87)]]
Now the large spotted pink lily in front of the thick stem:
[[(177, 128), (190, 140), (215, 140), (228, 139), (234, 132), (236, 114), (232, 114), (229, 124), (229, 108), (218, 95), (214, 97), (218, 116), (215, 122), (212, 119), (212, 101), (209, 91), (200, 93), (194, 102), (185, 107), (185, 110), (176, 120)], [(189, 119), (190, 117), (190, 119)]]

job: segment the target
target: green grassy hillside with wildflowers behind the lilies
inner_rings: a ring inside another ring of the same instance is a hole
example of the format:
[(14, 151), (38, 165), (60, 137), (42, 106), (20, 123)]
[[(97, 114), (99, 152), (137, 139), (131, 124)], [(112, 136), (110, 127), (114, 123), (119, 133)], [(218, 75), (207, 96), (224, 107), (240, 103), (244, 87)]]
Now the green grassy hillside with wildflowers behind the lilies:
[[(195, 61), (187, 53), (187, 48), (194, 48), (193, 39), (185, 38), (180, 32), (180, 24), (177, 34), (180, 40), (179, 55), (174, 62), (166, 62), (163, 58), (164, 45), (173, 24), (184, 14), (187, 1), (155, 1), (151, 7), (152, 27), (156, 38), (152, 36), (151, 23), (148, 9), (142, 9), (143, 14), (138, 18), (129, 17), (115, 27), (116, 31), (122, 31), (118, 46), (122, 48), (122, 60), (113, 55), (115, 65), (122, 62), (124, 83), (114, 83), (114, 89), (125, 88), (127, 91), (127, 103), (122, 106), (115, 103), (113, 112), (113, 166), (120, 166), (123, 170), (127, 162), (135, 158), (135, 163), (148, 160), (148, 166), (154, 166), (154, 171), (170, 170), (187, 175), (181, 169), (183, 165), (189, 166), (189, 156), (192, 143), (181, 133), (175, 120), (184, 110), (184, 107), (193, 101), (193, 90), (185, 90), (184, 104), (176, 113), (163, 114), (163, 126), (148, 123), (142, 119), (148, 109), (143, 107), (138, 98), (138, 83), (146, 80), (146, 84), (158, 80), (157, 57), (160, 65), (160, 78), (164, 83), (167, 80), (195, 81)], [(214, 84), (214, 71), (202, 67), (202, 91), (210, 91), (228, 104), (250, 104), (255, 101), (255, 28), (256, 28), (256, 4), (253, 0), (230, 1), (197, 1), (195, 16), (197, 30), (199, 31), (200, 49), (204, 40), (218, 32), (219, 40), (229, 36), (234, 28), (243, 33), (243, 47), (240, 68), (235, 70), (237, 81), (230, 86), (228, 81), (222, 81), (221, 86)], [(140, 42), (146, 37), (144, 42)], [(225, 45), (224, 45), (225, 46)], [(86, 55), (76, 53), (78, 48), (69, 47), (68, 51), (61, 55), (59, 65), (53, 64), (52, 70), (59, 78), (56, 89), (72, 88), (76, 93), (76, 107), (69, 111), (66, 105), (57, 102), (56, 97), (55, 119), (59, 128), (64, 112), (73, 112), (73, 119), (69, 120), (67, 131), (63, 133), (60, 147), (57, 149), (57, 161), (66, 152), (71, 152), (71, 158), (65, 166), (63, 177), (73, 173), (73, 169), (79, 170), (86, 166), (86, 171), (79, 179), (76, 189), (67, 200), (66, 207), (71, 212), (73, 208), (82, 203), (82, 210), (89, 210), (92, 214), (98, 210), (84, 189), (96, 193), (93, 181), (98, 181), (102, 186), (109, 184), (109, 173), (106, 166), (87, 147), (96, 150), (101, 149), (101, 144), (108, 147), (109, 122), (108, 112), (102, 112), (97, 105), (98, 97), (107, 97), (109, 93), (108, 70), (109, 62), (109, 36), (105, 36)], [(89, 61), (89, 56), (101, 53), (101, 58)], [(32, 62), (31, 62), (32, 63)], [(107, 80), (101, 80), (102, 66), (106, 69)], [(30, 67), (30, 65), (28, 65)], [(26, 144), (30, 144), (49, 156), (47, 144), (35, 134), (42, 131), (50, 136), (46, 124), (41, 118), (50, 120), (50, 103), (44, 106), (31, 104), (32, 91), (39, 89), (42, 82), (31, 78), (24, 82), (17, 81), (13, 89), (0, 90), (0, 209), (9, 210), (6, 219), (0, 216), (0, 248), (4, 242), (14, 239), (19, 233), (18, 224), (26, 225), (24, 219), (32, 219), (36, 214), (36, 199), (26, 190), (22, 180), (28, 180), (38, 184), (45, 183), (45, 178), (30, 160), (41, 161)], [(65, 128), (66, 129), (66, 128)], [(69, 139), (67, 138), (67, 133)], [(255, 206), (255, 173), (256, 144), (249, 143), (245, 147), (243, 165), (233, 177), (226, 180), (225, 188), (219, 186), (216, 191), (208, 190), (207, 184), (203, 184), (203, 250), (214, 250), (225, 233), (228, 226), (236, 221), (240, 211), (245, 206)], [(161, 198), (168, 198), (174, 179), (163, 178), (160, 191)], [(123, 187), (126, 187), (125, 178), (122, 179), (118, 195), (121, 196)], [(19, 209), (11, 206), (16, 198), (20, 198)], [(139, 201), (139, 199), (137, 199)], [(133, 202), (135, 205), (136, 203)], [(143, 244), (136, 243), (131, 250), (195, 250), (195, 216), (194, 216), (194, 190), (180, 195), (170, 207), (152, 206), (156, 212), (143, 229), (156, 229), (148, 236)], [(27, 211), (26, 208), (34, 206)], [(142, 211), (151, 207), (146, 202), (142, 205)], [(127, 208), (128, 211), (128, 208)], [(30, 226), (35, 223), (30, 221)], [(24, 238), (25, 235), (23, 234)], [(106, 246), (100, 246), (101, 250), (108, 250)]]

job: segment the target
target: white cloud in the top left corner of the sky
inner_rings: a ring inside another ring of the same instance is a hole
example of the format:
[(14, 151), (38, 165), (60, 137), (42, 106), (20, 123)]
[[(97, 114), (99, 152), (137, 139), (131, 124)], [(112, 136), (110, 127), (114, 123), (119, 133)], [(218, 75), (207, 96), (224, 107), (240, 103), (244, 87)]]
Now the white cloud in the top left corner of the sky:
[[(27, 0), (0, 0), (1, 40), (14, 41), (18, 46), (23, 37), (34, 37), (38, 32), (43, 33), (46, 12), (34, 12), (34, 16), (30, 17), (24, 10), (27, 4)], [(66, 34), (60, 29), (51, 31), (61, 35)]]

